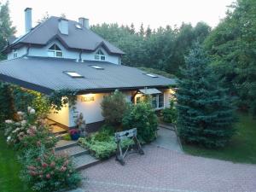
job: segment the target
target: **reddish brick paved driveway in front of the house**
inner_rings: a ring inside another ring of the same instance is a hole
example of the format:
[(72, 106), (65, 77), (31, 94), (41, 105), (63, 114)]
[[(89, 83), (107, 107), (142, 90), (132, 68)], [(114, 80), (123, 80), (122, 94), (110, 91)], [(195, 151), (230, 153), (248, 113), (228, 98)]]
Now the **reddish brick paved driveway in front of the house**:
[(253, 192), (256, 166), (180, 154), (154, 145), (130, 154), (126, 165), (113, 159), (82, 172), (86, 192)]

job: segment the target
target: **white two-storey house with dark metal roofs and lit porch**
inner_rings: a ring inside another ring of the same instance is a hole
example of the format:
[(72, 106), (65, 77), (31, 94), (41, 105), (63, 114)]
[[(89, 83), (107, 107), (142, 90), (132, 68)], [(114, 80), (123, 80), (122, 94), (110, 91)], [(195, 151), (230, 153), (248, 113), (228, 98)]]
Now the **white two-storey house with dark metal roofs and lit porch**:
[[(76, 108), (88, 127), (101, 125), (103, 96), (122, 91), (127, 101), (153, 98), (155, 110), (169, 106), (169, 86), (174, 79), (145, 73), (122, 65), (125, 53), (90, 30), (89, 20), (60, 17), (32, 28), (32, 9), (25, 9), (26, 34), (10, 40), (3, 50), (8, 60), (0, 62), (0, 80), (50, 94), (55, 90), (79, 90)], [(49, 119), (63, 127), (75, 126), (68, 106)]]

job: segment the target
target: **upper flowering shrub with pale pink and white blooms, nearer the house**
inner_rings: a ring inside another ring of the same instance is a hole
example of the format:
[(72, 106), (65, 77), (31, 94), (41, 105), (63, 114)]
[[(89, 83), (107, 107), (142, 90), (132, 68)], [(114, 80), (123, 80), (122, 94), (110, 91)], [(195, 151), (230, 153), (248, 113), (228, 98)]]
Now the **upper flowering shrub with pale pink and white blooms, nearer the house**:
[(42, 144), (46, 148), (53, 148), (56, 138), (45, 125), (44, 119), (35, 114), (33, 108), (28, 108), (27, 113), (18, 112), (18, 121), (5, 120), (7, 143), (16, 149), (35, 148)]

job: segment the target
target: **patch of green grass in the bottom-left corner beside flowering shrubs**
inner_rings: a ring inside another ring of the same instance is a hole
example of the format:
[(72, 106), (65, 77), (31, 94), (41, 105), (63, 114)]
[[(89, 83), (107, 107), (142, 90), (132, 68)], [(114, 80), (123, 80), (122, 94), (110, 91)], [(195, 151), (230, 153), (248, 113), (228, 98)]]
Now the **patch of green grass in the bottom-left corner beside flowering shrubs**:
[(0, 191), (30, 192), (25, 183), (20, 180), (20, 164), (12, 148), (9, 148), (0, 131)]

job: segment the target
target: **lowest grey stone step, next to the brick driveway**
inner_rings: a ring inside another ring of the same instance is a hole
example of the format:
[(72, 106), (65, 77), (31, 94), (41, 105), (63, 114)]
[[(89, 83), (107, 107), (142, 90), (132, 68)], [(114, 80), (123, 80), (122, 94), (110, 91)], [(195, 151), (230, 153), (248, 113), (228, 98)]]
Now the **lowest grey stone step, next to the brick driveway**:
[(90, 154), (83, 154), (83, 155), (74, 157), (73, 162), (76, 166), (76, 170), (80, 171), (80, 170), (86, 169), (90, 166), (94, 166), (94, 165), (100, 163), (101, 160), (96, 160)]

